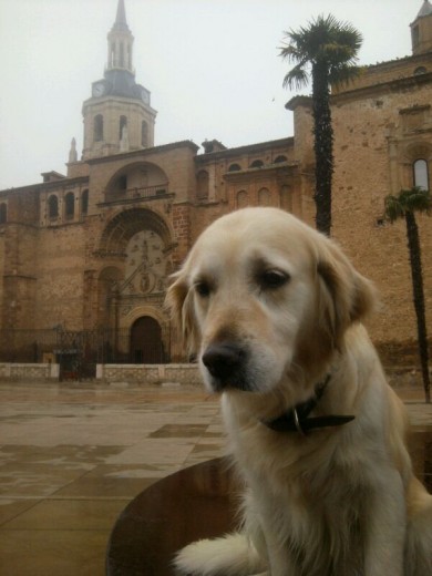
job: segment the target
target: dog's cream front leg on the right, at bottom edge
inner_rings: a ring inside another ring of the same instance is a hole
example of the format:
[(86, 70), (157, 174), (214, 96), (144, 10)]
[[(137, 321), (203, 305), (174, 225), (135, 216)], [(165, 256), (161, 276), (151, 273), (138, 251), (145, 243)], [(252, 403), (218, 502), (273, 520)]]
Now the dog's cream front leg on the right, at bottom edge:
[(367, 576), (403, 576), (405, 504), (402, 480), (398, 472), (383, 471), (380, 490), (373, 490), (366, 506)]

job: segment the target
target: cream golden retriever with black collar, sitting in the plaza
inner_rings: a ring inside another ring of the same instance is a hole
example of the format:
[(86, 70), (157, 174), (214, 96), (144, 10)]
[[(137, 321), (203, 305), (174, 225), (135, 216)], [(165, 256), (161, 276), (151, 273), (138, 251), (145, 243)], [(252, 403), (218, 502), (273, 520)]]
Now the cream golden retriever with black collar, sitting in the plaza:
[(179, 574), (432, 575), (432, 496), (361, 323), (373, 302), (341, 249), (282, 210), (245, 208), (198, 238), (167, 304), (222, 393), (246, 488), (238, 533), (183, 548)]

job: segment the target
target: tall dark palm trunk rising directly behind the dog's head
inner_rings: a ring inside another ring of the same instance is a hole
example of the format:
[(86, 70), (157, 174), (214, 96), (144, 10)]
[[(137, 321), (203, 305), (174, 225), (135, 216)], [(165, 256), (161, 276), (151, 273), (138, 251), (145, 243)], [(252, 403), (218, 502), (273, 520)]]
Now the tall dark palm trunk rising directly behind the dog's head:
[(312, 66), (312, 104), (316, 162), (316, 223), (319, 232), (330, 236), (333, 128), (331, 126), (330, 89), (326, 63), (316, 63)]

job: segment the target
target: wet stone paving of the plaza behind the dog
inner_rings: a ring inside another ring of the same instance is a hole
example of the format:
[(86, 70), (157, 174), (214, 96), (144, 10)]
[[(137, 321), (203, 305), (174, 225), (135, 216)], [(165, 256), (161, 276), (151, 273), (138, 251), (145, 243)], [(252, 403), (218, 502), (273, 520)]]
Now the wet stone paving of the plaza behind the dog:
[[(398, 393), (413, 425), (415, 467), (431, 490), (432, 405), (420, 389)], [(0, 402), (4, 576), (102, 576), (110, 533), (127, 504), (224, 453), (217, 398), (199, 388), (0, 382)], [(186, 474), (203, 481), (209, 466), (193, 470)], [(212, 477), (205, 485), (214, 493)]]

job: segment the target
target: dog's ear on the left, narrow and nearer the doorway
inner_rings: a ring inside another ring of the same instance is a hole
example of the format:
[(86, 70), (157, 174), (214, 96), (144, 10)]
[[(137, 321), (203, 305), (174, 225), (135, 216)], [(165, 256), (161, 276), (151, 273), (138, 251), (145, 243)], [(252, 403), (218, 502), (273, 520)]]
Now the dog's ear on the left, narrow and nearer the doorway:
[(165, 306), (171, 312), (175, 327), (179, 330), (183, 348), (188, 357), (192, 357), (197, 352), (198, 347), (193, 294), (183, 270), (174, 274), (172, 280), (173, 284), (166, 292)]

